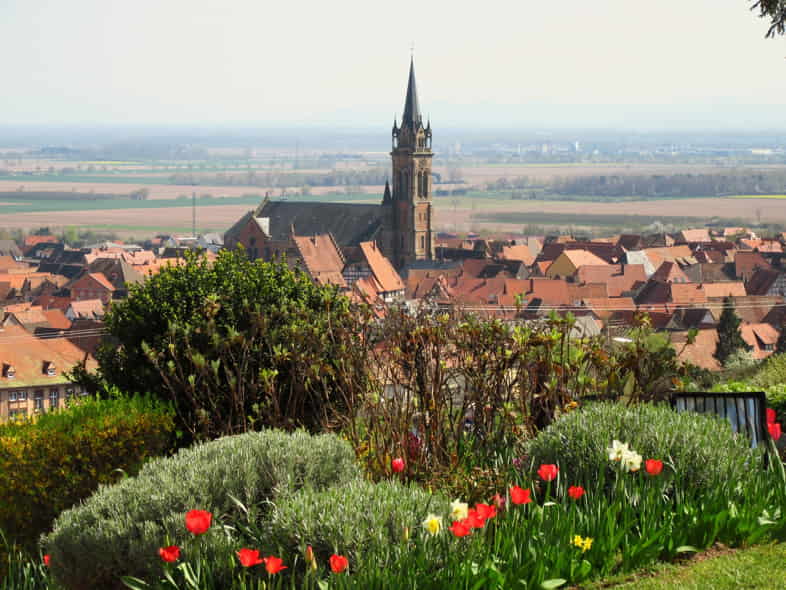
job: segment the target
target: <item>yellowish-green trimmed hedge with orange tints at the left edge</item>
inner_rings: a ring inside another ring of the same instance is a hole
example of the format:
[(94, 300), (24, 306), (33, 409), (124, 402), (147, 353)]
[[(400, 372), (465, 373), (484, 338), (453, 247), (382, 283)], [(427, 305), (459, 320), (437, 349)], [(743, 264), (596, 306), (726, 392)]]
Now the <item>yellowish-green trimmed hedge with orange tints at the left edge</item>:
[(143, 397), (85, 398), (3, 425), (0, 529), (33, 549), (60, 512), (165, 452), (173, 427), (168, 406)]

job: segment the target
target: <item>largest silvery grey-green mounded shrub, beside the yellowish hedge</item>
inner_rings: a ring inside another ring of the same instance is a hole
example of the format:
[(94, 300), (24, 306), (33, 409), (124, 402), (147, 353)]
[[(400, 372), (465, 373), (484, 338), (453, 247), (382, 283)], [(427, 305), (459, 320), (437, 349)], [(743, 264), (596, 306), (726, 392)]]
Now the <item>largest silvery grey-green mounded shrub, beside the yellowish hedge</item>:
[[(233, 522), (240, 513), (233, 497), (264, 513), (270, 501), (304, 485), (320, 490), (358, 477), (352, 448), (332, 435), (264, 431), (226, 437), (151, 461), (137, 477), (101, 488), (60, 515), (44, 546), (54, 577), (66, 588), (121, 588), (122, 575), (160, 571), (159, 547), (184, 544), (188, 510), (209, 510)], [(215, 526), (202, 539), (204, 551), (231, 554), (238, 534)]]

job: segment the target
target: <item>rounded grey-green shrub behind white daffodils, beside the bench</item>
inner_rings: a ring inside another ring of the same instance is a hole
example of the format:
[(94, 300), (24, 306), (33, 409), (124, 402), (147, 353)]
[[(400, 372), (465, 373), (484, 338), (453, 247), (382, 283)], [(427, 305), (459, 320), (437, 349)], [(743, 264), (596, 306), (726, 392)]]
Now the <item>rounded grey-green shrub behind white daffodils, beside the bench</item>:
[(675, 486), (691, 493), (743, 481), (754, 459), (747, 438), (728, 421), (665, 404), (591, 404), (540, 432), (527, 449), (535, 468), (555, 463), (567, 485), (596, 489), (610, 479), (606, 449), (615, 439), (644, 459), (663, 460)]

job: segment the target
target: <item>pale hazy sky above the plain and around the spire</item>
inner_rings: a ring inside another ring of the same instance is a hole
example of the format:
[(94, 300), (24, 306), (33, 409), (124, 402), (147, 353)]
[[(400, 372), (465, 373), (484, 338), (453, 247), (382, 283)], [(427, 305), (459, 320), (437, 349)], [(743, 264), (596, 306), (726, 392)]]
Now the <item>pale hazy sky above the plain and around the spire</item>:
[[(0, 0), (0, 124), (786, 128), (747, 0)], [(751, 107), (750, 105), (760, 105)]]

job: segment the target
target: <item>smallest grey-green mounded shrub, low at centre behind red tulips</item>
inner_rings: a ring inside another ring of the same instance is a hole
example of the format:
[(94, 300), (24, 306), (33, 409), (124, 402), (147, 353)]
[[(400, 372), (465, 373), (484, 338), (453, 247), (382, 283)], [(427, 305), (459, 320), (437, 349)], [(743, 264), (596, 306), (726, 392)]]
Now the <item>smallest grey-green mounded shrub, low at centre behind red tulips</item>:
[(276, 503), (270, 520), (260, 523), (259, 542), (288, 555), (311, 545), (321, 563), (337, 550), (354, 563), (372, 552), (392, 558), (389, 548), (417, 534), (427, 514), (446, 514), (448, 504), (445, 497), (395, 481), (359, 479), (324, 491), (304, 488)]

